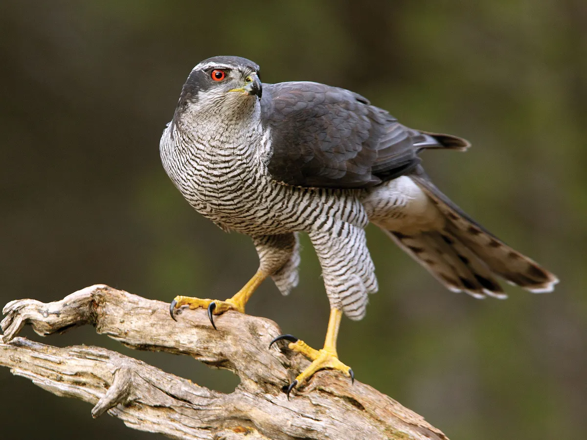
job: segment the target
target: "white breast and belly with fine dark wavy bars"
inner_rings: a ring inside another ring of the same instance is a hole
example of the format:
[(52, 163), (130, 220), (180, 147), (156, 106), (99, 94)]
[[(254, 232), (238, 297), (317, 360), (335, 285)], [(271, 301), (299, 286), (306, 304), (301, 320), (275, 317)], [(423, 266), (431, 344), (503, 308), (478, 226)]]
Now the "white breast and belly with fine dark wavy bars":
[[(233, 138), (234, 139), (234, 138)], [(247, 235), (336, 231), (345, 222), (364, 227), (360, 190), (298, 188), (276, 182), (262, 155), (268, 139), (241, 143), (180, 133), (173, 124), (161, 137), (163, 166), (196, 211), (225, 230)], [(261, 145), (258, 149), (251, 145)]]

